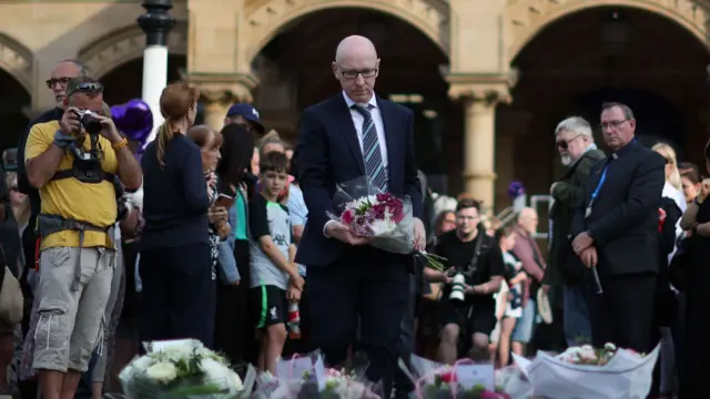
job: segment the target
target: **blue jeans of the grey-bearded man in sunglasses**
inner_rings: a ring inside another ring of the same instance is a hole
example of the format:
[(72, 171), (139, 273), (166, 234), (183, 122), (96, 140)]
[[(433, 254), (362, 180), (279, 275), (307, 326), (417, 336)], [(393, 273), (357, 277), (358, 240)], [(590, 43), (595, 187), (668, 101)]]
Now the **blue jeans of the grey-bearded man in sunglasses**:
[[(565, 286), (562, 293), (562, 323), (568, 346), (591, 342), (589, 306), (584, 286)], [(580, 342), (581, 340), (581, 342)]]

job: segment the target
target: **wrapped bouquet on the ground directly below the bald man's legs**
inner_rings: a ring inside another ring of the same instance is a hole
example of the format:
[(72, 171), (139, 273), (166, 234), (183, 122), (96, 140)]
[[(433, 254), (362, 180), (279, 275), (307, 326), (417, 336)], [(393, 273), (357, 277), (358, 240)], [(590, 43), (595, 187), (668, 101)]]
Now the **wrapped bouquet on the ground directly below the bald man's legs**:
[(256, 385), (256, 399), (381, 399), (378, 386), (356, 371), (326, 368), (317, 352), (280, 361), (276, 375), (261, 374)]

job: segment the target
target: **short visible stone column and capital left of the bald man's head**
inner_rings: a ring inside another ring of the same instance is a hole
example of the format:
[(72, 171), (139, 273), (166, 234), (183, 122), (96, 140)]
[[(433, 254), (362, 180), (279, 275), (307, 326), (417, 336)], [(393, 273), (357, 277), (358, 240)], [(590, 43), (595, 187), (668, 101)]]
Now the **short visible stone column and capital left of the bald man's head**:
[(258, 84), (256, 76), (243, 73), (191, 73), (185, 78), (200, 89), (204, 123), (216, 130), (224, 126), (224, 117), (232, 104), (254, 101), (252, 91)]

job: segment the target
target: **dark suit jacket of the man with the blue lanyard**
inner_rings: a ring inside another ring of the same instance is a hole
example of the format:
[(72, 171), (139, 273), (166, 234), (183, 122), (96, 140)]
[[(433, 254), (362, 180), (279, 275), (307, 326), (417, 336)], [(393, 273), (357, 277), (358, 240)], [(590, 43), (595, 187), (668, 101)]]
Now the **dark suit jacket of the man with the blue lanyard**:
[[(585, 212), (605, 165), (607, 178), (589, 217)], [(658, 208), (666, 160), (633, 141), (595, 165), (577, 208), (572, 236), (589, 232), (599, 255), (600, 275), (658, 273)]]

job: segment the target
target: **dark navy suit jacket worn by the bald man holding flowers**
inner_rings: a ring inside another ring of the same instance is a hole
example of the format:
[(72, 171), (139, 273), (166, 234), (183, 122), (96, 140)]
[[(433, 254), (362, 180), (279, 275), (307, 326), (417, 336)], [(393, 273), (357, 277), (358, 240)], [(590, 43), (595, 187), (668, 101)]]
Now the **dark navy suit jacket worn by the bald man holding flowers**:
[[(377, 108), (385, 126), (389, 192), (408, 196), (414, 216), (422, 218), (422, 191), (414, 157), (414, 114), (412, 110), (381, 98), (377, 98)], [(336, 213), (337, 204), (333, 204), (336, 185), (365, 175), (359, 141), (342, 93), (303, 112), (297, 153), (308, 221), (296, 262), (326, 266), (346, 248), (344, 243), (323, 234), (323, 227), (329, 221), (326, 213)]]

